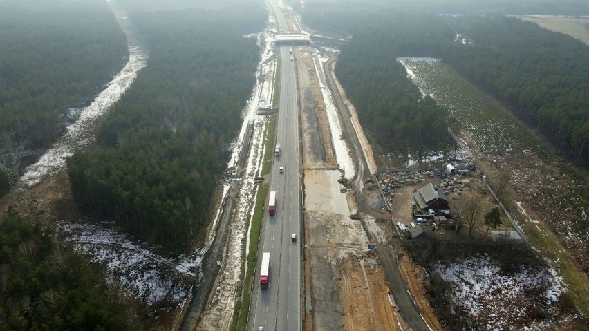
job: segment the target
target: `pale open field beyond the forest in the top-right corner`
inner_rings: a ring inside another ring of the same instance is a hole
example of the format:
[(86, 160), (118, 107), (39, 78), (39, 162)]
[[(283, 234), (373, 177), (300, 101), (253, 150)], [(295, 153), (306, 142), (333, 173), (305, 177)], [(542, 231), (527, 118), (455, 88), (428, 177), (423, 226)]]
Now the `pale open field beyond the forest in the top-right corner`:
[(589, 45), (589, 31), (585, 27), (589, 24), (589, 17), (562, 17), (562, 16), (516, 16), (523, 21), (530, 21), (538, 24), (542, 28), (561, 32), (570, 35), (574, 39), (579, 39)]

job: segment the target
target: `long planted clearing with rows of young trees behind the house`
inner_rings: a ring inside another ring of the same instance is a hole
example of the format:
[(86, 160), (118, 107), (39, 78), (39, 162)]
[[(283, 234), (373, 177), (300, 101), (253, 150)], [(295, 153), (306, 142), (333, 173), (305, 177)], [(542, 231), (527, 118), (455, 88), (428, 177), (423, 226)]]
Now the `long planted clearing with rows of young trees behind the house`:
[(589, 316), (586, 178), (515, 117), (440, 61), (409, 59), (415, 82), (460, 123), (459, 143), (494, 186), (507, 176), (503, 203), (532, 246), (558, 270), (577, 307)]

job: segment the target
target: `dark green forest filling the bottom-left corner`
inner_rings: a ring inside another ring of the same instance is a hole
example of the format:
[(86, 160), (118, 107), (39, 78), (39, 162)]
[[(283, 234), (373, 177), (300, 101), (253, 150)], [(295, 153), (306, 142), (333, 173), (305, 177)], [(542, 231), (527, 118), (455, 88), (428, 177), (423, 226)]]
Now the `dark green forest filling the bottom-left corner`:
[(39, 223), (0, 220), (0, 330), (138, 330), (102, 271)]

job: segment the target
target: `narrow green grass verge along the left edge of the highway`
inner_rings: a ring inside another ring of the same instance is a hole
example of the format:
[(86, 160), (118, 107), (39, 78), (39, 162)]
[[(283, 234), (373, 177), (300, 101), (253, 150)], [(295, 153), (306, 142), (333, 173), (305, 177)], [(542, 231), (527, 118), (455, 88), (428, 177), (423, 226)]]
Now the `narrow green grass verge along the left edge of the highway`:
[[(266, 129), (265, 153), (262, 162), (261, 176), (268, 175), (272, 169), (272, 159), (274, 158), (274, 140), (276, 136), (276, 115), (270, 116), (268, 129)], [(245, 330), (247, 327), (247, 316), (250, 314), (250, 301), (252, 299), (252, 282), (256, 271), (256, 258), (258, 256), (258, 247), (260, 242), (260, 233), (262, 228), (264, 203), (268, 195), (268, 184), (262, 184), (258, 187), (256, 196), (256, 205), (254, 215), (250, 220), (250, 247), (248, 247), (247, 261), (245, 265), (245, 277), (243, 281), (243, 298), (241, 302), (236, 303), (234, 310), (234, 319), (231, 330)]]

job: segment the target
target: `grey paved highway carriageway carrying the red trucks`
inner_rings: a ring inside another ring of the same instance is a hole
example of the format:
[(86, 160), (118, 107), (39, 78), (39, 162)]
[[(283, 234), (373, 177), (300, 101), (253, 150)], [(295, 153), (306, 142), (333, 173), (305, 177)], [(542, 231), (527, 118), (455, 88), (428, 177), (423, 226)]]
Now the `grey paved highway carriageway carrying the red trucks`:
[[(283, 32), (286, 21), (274, 3), (274, 12)], [(248, 330), (301, 330), (301, 167), (299, 164), (299, 111), (296, 72), (290, 60), (290, 46), (281, 46), (281, 84), (276, 142), (281, 155), (274, 158), (270, 191), (277, 192), (274, 216), (265, 211), (260, 249), (256, 264), (256, 281), (248, 319)], [(273, 146), (268, 146), (272, 148)], [(284, 172), (279, 173), (279, 167)], [(268, 205), (268, 197), (266, 197)], [(292, 234), (297, 241), (292, 242)], [(270, 252), (270, 285), (262, 290), (259, 272), (263, 252)]]

